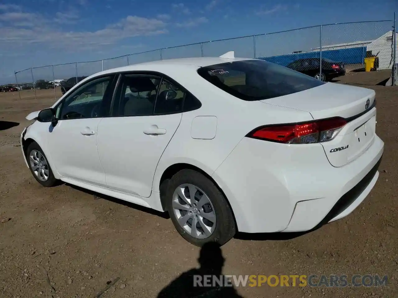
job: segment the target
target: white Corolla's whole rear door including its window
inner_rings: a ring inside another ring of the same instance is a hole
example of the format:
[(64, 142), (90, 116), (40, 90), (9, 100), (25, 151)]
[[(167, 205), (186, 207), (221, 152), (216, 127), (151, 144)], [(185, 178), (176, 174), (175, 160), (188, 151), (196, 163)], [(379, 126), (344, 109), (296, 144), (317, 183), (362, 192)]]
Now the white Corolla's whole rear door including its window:
[(123, 74), (112, 117), (98, 126), (107, 187), (149, 197), (156, 166), (176, 132), (185, 92), (160, 76)]

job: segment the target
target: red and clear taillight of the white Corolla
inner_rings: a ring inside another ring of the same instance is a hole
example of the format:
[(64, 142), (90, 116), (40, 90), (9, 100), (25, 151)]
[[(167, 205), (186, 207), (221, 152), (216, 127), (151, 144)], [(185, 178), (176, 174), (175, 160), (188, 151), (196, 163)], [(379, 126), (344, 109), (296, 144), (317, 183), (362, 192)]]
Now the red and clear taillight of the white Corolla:
[(287, 144), (320, 143), (334, 139), (347, 124), (343, 118), (330, 118), (299, 124), (260, 127), (247, 137)]

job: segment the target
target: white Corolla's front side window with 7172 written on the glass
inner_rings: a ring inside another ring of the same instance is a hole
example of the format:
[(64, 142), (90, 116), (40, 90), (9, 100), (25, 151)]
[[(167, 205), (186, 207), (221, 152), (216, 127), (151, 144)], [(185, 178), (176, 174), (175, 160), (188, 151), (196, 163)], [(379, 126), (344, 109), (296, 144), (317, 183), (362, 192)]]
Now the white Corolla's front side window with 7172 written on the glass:
[(107, 113), (109, 113), (109, 98), (105, 97), (112, 78), (113, 76), (103, 77), (82, 85), (57, 107), (57, 119), (107, 116)]

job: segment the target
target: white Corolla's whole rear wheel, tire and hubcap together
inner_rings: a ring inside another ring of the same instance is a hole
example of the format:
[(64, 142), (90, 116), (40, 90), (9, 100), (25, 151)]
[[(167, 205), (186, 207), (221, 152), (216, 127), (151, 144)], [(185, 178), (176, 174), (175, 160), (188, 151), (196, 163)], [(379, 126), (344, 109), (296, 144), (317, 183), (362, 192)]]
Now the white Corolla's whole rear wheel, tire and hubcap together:
[(176, 173), (170, 179), (166, 199), (174, 226), (191, 244), (222, 245), (234, 236), (235, 221), (228, 201), (203, 174), (191, 169)]

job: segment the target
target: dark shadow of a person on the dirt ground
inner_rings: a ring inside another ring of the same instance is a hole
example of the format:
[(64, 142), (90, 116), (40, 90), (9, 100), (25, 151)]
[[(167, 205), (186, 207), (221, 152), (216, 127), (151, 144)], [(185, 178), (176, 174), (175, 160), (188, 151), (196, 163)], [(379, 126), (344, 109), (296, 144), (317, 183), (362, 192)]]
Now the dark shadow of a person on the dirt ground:
[(219, 244), (204, 244), (198, 261), (199, 268), (192, 268), (179, 275), (159, 292), (158, 298), (242, 298), (231, 282), (225, 282), (222, 275), (225, 259)]

